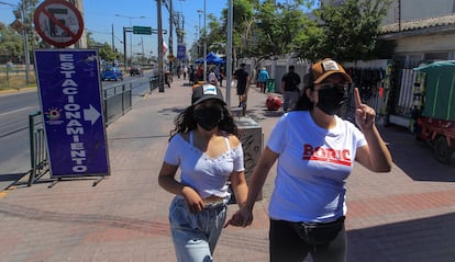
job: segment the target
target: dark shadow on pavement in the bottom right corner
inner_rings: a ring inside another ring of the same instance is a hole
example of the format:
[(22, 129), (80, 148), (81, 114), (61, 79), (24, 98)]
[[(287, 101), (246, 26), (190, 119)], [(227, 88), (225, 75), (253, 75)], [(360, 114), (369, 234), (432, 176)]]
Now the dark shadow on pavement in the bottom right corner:
[(455, 213), (347, 231), (348, 261), (454, 261)]

